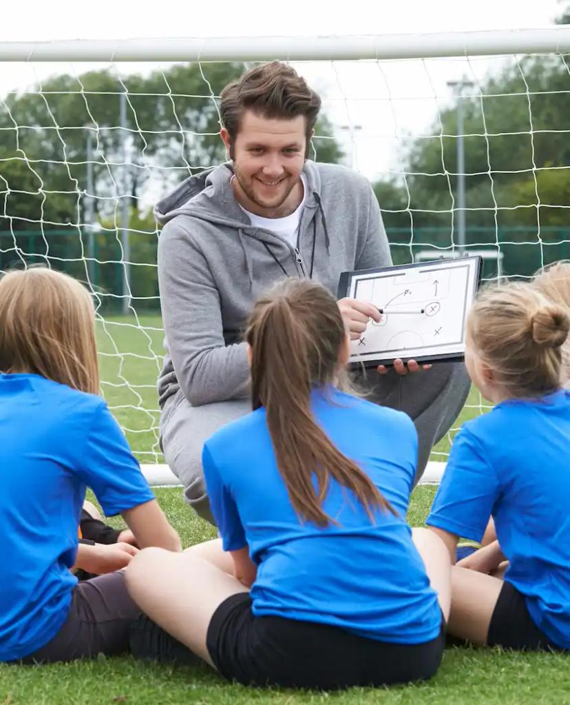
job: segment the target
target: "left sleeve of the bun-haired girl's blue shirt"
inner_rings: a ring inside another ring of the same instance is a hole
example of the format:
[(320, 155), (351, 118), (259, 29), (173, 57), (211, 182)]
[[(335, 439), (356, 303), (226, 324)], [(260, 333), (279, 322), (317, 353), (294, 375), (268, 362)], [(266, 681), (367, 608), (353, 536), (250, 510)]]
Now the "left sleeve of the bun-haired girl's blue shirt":
[(497, 473), (485, 455), (476, 436), (461, 429), (426, 520), (428, 525), (481, 541), (500, 493)]

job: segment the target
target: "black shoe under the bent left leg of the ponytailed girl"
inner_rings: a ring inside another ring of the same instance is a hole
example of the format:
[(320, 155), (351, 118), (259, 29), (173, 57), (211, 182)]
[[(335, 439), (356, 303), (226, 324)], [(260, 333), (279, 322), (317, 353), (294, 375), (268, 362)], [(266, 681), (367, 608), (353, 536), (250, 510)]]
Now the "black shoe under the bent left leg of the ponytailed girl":
[(129, 646), (132, 655), (144, 661), (187, 666), (200, 660), (187, 646), (171, 637), (144, 613), (140, 613), (130, 625)]

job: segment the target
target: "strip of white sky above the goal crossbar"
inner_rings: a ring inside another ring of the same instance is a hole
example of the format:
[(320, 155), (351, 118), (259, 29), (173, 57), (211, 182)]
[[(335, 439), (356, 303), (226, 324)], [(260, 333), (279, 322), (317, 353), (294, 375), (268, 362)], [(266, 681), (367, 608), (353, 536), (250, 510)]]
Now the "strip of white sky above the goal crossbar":
[(546, 27), (556, 0), (27, 0), (4, 3), (0, 40), (345, 35)]

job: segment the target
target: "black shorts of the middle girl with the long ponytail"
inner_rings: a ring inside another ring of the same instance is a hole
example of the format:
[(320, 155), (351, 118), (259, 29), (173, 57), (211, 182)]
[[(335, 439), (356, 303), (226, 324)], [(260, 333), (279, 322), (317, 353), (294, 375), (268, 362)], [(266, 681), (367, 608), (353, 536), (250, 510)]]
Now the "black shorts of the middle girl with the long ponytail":
[(330, 625), (255, 617), (249, 594), (241, 592), (213, 614), (206, 644), (228, 680), (330, 690), (431, 678), (440, 665), (445, 631), (442, 623), (430, 642), (388, 644)]

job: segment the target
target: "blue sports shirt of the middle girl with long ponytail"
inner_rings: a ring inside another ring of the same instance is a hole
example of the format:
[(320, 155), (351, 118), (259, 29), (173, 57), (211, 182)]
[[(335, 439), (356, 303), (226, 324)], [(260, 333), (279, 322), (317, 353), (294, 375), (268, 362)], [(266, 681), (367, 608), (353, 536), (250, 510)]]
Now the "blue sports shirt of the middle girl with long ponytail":
[(275, 461), (264, 408), (206, 441), (204, 474), (226, 551), (248, 546), (257, 565), (255, 615), (324, 623), (399, 644), (438, 636), (441, 612), (405, 515), (417, 435), (402, 412), (338, 391), (314, 391), (316, 422), (361, 467), (398, 516), (376, 511), (330, 479), (326, 528), (299, 520)]

